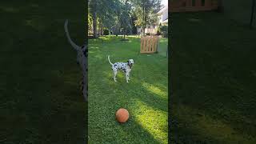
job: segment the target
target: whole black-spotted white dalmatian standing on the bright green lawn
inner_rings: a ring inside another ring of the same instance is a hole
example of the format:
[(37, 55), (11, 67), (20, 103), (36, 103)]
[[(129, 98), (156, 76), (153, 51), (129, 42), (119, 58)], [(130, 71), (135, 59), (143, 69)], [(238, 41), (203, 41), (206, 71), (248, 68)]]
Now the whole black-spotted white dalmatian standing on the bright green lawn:
[[(107, 56), (109, 62), (110, 62), (110, 56)], [(112, 66), (112, 70), (114, 73), (114, 82), (117, 82), (116, 75), (118, 74), (118, 70), (122, 70), (126, 74), (126, 82), (130, 80), (130, 70), (132, 69), (132, 66), (134, 66), (134, 60), (129, 59), (127, 62), (115, 62), (114, 64), (110, 62), (110, 65)]]

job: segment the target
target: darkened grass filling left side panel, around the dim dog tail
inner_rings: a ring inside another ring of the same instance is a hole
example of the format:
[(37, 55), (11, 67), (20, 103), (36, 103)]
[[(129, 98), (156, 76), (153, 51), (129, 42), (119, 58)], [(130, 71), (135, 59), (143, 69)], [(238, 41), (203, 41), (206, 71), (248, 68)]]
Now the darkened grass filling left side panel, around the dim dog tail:
[(84, 143), (81, 70), (67, 42), (85, 41), (86, 3), (1, 1), (0, 143)]

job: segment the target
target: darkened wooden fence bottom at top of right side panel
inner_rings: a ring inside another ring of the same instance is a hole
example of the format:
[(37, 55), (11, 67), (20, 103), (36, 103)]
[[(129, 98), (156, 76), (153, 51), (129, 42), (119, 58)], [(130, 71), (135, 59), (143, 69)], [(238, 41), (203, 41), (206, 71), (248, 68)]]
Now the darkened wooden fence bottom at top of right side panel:
[(206, 11), (218, 9), (218, 0), (173, 0), (170, 12)]

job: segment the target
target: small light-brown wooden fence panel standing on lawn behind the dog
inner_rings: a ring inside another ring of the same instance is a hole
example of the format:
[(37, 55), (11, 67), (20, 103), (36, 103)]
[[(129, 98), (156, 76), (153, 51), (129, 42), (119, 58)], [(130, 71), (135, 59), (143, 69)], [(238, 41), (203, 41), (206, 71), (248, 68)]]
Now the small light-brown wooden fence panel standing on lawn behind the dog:
[(158, 50), (158, 37), (149, 36), (141, 38), (141, 53), (155, 53)]

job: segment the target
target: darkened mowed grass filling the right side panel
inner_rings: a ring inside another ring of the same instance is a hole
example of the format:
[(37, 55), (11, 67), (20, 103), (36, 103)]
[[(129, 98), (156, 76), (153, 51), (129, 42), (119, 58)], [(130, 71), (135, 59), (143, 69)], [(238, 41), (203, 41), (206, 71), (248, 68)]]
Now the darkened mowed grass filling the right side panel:
[(256, 30), (215, 12), (172, 24), (172, 142), (256, 143)]

